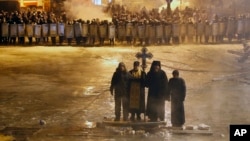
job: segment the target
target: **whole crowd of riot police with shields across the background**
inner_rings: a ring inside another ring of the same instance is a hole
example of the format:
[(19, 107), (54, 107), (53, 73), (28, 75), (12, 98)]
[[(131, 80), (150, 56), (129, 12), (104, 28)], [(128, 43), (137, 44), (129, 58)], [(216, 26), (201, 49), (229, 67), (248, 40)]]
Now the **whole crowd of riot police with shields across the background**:
[[(132, 12), (111, 4), (104, 11), (112, 21), (74, 19), (67, 13), (26, 11), (0, 12), (0, 44), (24, 45), (161, 45), (180, 43), (222, 43), (250, 38), (250, 17), (219, 16), (186, 7)], [(212, 17), (212, 18), (211, 18)]]

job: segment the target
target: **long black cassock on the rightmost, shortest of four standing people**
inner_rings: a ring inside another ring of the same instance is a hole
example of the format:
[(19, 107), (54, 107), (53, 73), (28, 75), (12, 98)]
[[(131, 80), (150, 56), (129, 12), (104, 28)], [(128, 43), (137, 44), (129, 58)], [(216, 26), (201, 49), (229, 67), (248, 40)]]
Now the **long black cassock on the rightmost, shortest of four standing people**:
[(184, 100), (186, 97), (186, 85), (182, 78), (169, 80), (171, 98), (171, 123), (172, 126), (182, 126), (185, 123)]

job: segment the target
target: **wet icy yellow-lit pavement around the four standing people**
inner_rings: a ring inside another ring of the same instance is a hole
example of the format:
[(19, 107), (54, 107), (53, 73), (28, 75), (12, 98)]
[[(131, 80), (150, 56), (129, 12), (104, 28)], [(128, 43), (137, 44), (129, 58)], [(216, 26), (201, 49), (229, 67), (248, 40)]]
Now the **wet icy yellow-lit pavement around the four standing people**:
[[(249, 61), (239, 63), (239, 56), (228, 52), (242, 49), (241, 44), (148, 47), (154, 55), (148, 67), (160, 60), (169, 78), (180, 70), (187, 85), (185, 125), (209, 125), (213, 135), (204, 136), (95, 128), (104, 117), (114, 117), (113, 72), (120, 61), (131, 69), (140, 47), (1, 47), (0, 129), (40, 128), (26, 138), (32, 141), (227, 141), (230, 124), (250, 122)], [(168, 124), (169, 106), (166, 102)]]

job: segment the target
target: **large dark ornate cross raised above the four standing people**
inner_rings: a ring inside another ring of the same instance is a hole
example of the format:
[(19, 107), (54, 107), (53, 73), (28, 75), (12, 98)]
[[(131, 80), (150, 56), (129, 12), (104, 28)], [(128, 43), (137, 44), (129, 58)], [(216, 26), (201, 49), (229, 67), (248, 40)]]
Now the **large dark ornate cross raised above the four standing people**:
[(153, 57), (153, 54), (148, 52), (148, 49), (146, 47), (143, 47), (141, 49), (141, 52), (136, 53), (135, 57), (137, 59), (142, 59), (142, 69), (143, 71), (145, 71), (145, 69), (147, 68), (147, 64), (146, 64), (146, 59), (151, 59)]

